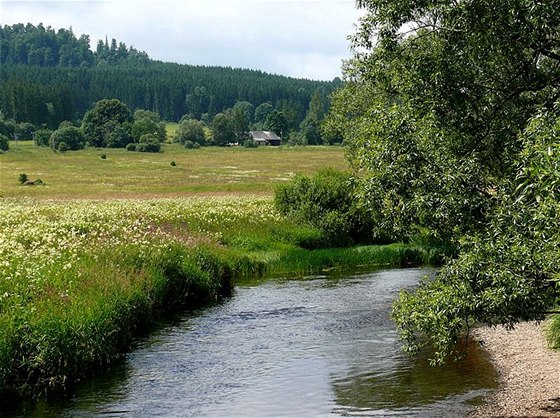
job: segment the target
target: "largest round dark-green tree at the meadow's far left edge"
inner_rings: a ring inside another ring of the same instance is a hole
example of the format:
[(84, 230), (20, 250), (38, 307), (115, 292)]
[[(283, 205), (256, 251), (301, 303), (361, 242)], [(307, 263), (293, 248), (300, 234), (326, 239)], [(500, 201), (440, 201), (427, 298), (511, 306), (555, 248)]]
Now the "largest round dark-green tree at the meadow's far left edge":
[(103, 99), (86, 112), (82, 130), (93, 147), (125, 147), (131, 142), (131, 122), (128, 106), (117, 99)]

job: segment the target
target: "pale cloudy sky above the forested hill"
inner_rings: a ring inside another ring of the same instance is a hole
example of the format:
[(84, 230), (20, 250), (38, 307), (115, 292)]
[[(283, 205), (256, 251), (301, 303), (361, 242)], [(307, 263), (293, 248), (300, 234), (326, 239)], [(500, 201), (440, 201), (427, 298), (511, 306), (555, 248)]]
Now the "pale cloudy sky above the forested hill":
[(92, 49), (115, 38), (156, 60), (313, 80), (342, 75), (360, 13), (354, 0), (0, 0), (0, 24), (71, 27)]

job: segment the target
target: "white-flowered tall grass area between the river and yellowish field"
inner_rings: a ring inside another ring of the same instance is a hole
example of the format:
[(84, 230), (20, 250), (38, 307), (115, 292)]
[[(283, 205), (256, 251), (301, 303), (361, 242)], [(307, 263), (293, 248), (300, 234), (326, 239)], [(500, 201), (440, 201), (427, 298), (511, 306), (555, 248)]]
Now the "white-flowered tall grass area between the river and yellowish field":
[(0, 387), (58, 392), (108, 367), (166, 311), (215, 300), (238, 277), (425, 263), (392, 245), (304, 250), (317, 231), (268, 196), (37, 201), (0, 206)]

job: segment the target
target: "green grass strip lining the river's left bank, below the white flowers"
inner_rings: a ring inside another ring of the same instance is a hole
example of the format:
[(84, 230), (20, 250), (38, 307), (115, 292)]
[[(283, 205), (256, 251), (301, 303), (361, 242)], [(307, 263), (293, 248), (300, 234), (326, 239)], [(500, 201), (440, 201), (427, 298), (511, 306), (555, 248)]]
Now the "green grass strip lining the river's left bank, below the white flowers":
[(158, 318), (215, 301), (243, 277), (433, 264), (437, 254), (433, 248), (403, 244), (287, 247), (254, 253), (177, 243), (149, 253), (122, 246), (101, 254), (81, 254), (68, 274), (89, 275), (93, 284), (80, 289), (79, 297), (66, 298), (65, 291), (53, 283), (56, 297), (45, 297), (24, 316), (2, 317), (0, 399), (56, 396), (71, 390), (75, 382), (118, 361)]

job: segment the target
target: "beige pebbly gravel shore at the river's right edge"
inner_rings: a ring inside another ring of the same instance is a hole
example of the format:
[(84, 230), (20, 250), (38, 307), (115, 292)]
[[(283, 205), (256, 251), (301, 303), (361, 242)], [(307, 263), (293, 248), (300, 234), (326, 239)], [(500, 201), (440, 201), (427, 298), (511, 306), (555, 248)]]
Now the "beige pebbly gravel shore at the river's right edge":
[(560, 415), (560, 352), (547, 348), (545, 325), (479, 328), (475, 338), (500, 374), (499, 389), (469, 417), (557, 417)]

